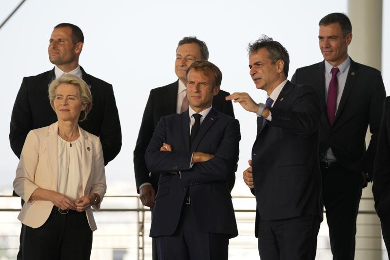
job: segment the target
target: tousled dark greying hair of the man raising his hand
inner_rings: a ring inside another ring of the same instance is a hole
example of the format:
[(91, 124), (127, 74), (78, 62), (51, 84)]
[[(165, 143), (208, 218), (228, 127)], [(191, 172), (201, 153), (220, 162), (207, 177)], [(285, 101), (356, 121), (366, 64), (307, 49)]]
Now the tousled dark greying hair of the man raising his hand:
[(272, 60), (273, 64), (278, 60), (284, 61), (283, 72), (287, 78), (287, 76), (289, 76), (290, 56), (286, 48), (278, 41), (273, 40), (267, 35), (262, 35), (258, 40), (248, 44), (249, 55), (257, 52), (261, 48), (267, 49), (268, 58)]

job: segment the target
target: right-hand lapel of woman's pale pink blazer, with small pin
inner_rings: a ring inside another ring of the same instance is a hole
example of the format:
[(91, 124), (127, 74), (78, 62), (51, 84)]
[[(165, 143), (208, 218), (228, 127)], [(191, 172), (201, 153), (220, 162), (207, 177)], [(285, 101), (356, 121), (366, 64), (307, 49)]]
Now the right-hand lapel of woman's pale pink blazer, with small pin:
[(80, 133), (80, 143), (81, 143), (81, 160), (82, 160), (82, 191), (85, 194), (85, 186), (87, 184), (88, 178), (91, 174), (92, 167), (92, 154), (93, 154), (93, 145), (91, 140), (89, 140), (89, 135), (82, 128), (78, 127)]

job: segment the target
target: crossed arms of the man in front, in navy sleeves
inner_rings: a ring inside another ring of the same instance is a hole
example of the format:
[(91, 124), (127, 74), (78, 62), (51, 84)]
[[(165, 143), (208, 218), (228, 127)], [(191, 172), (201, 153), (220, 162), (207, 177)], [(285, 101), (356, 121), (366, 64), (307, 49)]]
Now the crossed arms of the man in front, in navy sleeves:
[[(166, 131), (166, 122), (162, 118), (145, 154), (145, 161), (151, 172), (180, 171), (184, 186), (218, 180), (226, 181), (234, 173), (239, 152), (238, 144), (241, 139), (238, 120), (232, 120), (224, 129), (222, 140), (214, 155), (175, 151), (175, 148), (166, 143)], [(190, 167), (193, 163), (193, 167)]]

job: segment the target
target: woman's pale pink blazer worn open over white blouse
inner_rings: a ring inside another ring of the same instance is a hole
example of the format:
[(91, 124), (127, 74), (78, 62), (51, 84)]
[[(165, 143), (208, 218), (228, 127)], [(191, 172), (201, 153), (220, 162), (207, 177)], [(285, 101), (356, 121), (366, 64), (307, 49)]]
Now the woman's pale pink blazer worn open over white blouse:
[[(97, 136), (79, 127), (82, 158), (83, 194), (97, 193), (103, 200), (106, 192), (103, 152)], [(58, 188), (58, 122), (31, 130), (24, 143), (14, 189), (24, 203), (18, 219), (25, 225), (37, 228), (48, 219), (53, 203), (46, 200), (31, 200), (38, 188), (57, 191)], [(100, 202), (101, 202), (100, 200)], [(92, 207), (100, 208), (100, 202)], [(92, 209), (85, 210), (92, 231), (97, 229)]]

